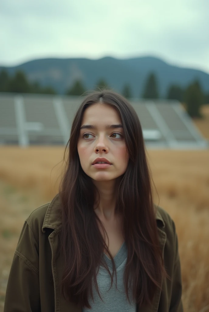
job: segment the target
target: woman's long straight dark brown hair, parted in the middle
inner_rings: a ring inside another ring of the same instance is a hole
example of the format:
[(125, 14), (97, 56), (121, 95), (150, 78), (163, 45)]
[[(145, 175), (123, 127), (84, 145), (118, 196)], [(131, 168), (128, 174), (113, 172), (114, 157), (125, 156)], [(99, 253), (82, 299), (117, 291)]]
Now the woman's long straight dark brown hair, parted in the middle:
[[(129, 162), (126, 172), (119, 178), (116, 212), (124, 217), (123, 229), (128, 248), (124, 272), (125, 292), (132, 281), (132, 294), (139, 305), (151, 304), (161, 279), (168, 277), (158, 241), (156, 206), (153, 204), (151, 174), (146, 160), (142, 127), (132, 105), (122, 95), (112, 90), (93, 91), (86, 95), (72, 123), (66, 170), (60, 184), (62, 229), (59, 233), (60, 251), (63, 254), (62, 293), (65, 299), (79, 307), (91, 308), (92, 281), (100, 296), (96, 281), (96, 268), (102, 264), (113, 283), (116, 268), (108, 246), (101, 235), (98, 223), (105, 228), (94, 212), (97, 189), (91, 178), (81, 168), (77, 142), (84, 111), (94, 103), (105, 103), (119, 114)], [(65, 155), (64, 153), (64, 155)], [(105, 231), (106, 232), (106, 231)], [(113, 264), (111, 275), (103, 261), (104, 250)], [(117, 285), (117, 277), (116, 277)], [(100, 296), (101, 299), (101, 296)]]

